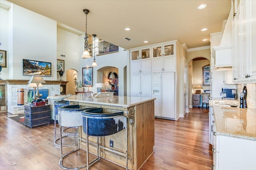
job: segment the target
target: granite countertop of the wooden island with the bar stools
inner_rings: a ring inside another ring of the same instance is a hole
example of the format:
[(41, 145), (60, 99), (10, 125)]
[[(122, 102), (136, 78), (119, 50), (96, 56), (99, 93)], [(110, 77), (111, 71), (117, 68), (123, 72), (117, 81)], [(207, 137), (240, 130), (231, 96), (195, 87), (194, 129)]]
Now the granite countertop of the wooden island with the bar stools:
[(76, 94), (65, 98), (71, 102), (82, 102), (88, 104), (101, 104), (107, 106), (118, 106), (118, 107), (132, 107), (138, 104), (142, 104), (156, 98), (151, 97), (127, 97), (127, 96), (108, 96), (102, 98), (90, 98), (86, 94)]

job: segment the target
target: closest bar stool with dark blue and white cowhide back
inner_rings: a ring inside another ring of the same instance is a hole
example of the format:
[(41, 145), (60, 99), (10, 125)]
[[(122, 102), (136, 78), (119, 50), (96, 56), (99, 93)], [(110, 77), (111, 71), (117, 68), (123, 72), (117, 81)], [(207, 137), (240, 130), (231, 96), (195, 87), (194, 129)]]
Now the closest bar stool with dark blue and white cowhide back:
[[(122, 111), (108, 110), (108, 113), (103, 108), (91, 108), (82, 111), (83, 116), (83, 131), (86, 134), (86, 162), (87, 170), (89, 167), (100, 161), (100, 148), (110, 150), (100, 145), (99, 137), (113, 135), (124, 129), (126, 129), (126, 153), (119, 152), (117, 150), (111, 150), (111, 152), (121, 155), (120, 157), (126, 158), (126, 170), (128, 169), (128, 133), (127, 133), (127, 119), (124, 117)], [(89, 139), (88, 136), (97, 137), (97, 158), (89, 162)]]

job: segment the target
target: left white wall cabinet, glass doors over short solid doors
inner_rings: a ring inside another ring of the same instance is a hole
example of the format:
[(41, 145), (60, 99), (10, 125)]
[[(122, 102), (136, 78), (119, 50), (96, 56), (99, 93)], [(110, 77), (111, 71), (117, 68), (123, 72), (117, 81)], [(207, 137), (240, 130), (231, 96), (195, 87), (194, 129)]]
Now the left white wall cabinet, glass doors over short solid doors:
[(150, 48), (131, 51), (131, 74), (151, 72)]

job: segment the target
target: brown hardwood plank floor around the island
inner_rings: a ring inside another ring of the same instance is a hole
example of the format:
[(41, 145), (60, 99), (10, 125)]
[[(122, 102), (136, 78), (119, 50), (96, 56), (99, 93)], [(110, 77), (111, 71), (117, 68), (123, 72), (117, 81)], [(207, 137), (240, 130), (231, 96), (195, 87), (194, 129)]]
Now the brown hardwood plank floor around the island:
[[(178, 121), (156, 118), (155, 152), (141, 170), (210, 170), (212, 146), (208, 144), (208, 111), (192, 108)], [(30, 129), (6, 115), (8, 113), (0, 113), (1, 170), (62, 169), (59, 166), (60, 148), (54, 146), (54, 123)], [(73, 149), (64, 148), (64, 152)], [(73, 158), (66, 166), (84, 163), (86, 152), (82, 150)], [(125, 168), (102, 159), (90, 169)]]

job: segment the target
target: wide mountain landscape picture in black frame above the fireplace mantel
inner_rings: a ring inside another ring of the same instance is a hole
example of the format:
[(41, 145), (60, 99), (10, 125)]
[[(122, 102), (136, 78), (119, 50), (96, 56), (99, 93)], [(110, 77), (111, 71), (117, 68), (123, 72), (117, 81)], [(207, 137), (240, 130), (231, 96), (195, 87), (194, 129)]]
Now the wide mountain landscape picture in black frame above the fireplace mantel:
[(23, 59), (23, 76), (52, 76), (52, 63)]

